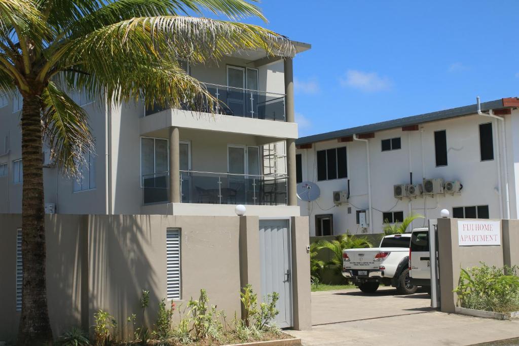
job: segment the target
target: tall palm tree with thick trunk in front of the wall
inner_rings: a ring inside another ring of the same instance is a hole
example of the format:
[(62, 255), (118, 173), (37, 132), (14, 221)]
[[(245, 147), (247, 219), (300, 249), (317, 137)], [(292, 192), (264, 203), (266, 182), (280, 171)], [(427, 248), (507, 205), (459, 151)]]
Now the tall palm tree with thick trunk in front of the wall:
[(18, 344), (49, 343), (45, 281), (42, 145), (60, 173), (77, 176), (93, 150), (88, 117), (67, 95), (111, 104), (213, 109), (206, 88), (179, 60), (203, 64), (242, 49), (292, 57), (290, 40), (231, 20), (259, 17), (255, 0), (0, 0), (0, 94), (23, 97), (21, 112), (23, 291)]

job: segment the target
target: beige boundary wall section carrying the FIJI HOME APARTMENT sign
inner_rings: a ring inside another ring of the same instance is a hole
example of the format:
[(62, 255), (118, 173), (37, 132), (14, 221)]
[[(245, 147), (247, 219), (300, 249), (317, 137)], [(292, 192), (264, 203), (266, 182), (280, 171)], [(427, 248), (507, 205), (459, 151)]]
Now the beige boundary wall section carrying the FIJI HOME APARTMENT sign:
[[(488, 220), (486, 220), (488, 221)], [(501, 224), (501, 245), (459, 246), (458, 219), (438, 219), (441, 310), (454, 313), (461, 268), (519, 265), (519, 220), (496, 220)]]

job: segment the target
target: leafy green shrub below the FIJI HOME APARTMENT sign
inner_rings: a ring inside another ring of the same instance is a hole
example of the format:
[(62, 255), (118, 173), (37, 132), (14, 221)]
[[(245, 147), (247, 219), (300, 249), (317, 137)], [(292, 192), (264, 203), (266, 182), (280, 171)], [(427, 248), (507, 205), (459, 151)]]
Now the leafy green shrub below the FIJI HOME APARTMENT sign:
[(519, 310), (519, 277), (516, 267), (481, 267), (461, 269), (458, 305), (462, 308), (509, 313)]

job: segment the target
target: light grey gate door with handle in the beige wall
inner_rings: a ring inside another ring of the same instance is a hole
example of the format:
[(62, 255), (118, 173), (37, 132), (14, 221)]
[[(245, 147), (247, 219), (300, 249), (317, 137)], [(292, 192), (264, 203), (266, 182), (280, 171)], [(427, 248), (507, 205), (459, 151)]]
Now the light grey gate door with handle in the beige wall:
[(279, 293), (276, 324), (292, 327), (292, 261), (289, 220), (260, 220), (261, 296)]

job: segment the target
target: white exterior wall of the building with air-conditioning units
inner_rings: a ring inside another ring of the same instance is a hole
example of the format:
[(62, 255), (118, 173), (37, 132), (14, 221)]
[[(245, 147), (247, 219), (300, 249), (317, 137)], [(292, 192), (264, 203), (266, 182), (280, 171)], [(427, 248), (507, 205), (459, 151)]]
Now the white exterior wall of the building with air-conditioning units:
[[(517, 217), (515, 195), (517, 184), (514, 182), (514, 172), (519, 170), (519, 140), (514, 133), (519, 130), (517, 111), (507, 116), (507, 143), (509, 163), (509, 189), (511, 218)], [(494, 131), (494, 160), (480, 160), (479, 124), (493, 122)], [(404, 217), (409, 212), (425, 215), (426, 218), (440, 217), (440, 211), (447, 209), (452, 213), (456, 206), (488, 205), (490, 218), (500, 218), (499, 184), (497, 168), (497, 120), (489, 117), (473, 115), (458, 117), (421, 124), (421, 131), (402, 131), (401, 128), (378, 131), (375, 138), (369, 140), (370, 145), (370, 173), (372, 190), (372, 218), (373, 225), (367, 232), (381, 232), (383, 212), (403, 211)], [(515, 131), (514, 131), (515, 129)], [(434, 131), (446, 130), (447, 135), (447, 166), (436, 167), (434, 151)], [(423, 136), (423, 146), (421, 138)], [(401, 137), (401, 149), (381, 151), (381, 140), (392, 137)], [(348, 178), (350, 179), (349, 203), (334, 206), (332, 193), (338, 190), (347, 190), (347, 179), (317, 182), (316, 151), (321, 149), (347, 147)], [(423, 167), (422, 151), (423, 148)], [(362, 233), (363, 230), (356, 223), (356, 210), (368, 209), (367, 196), (367, 167), (366, 143), (347, 142), (338, 143), (337, 140), (313, 143), (311, 149), (298, 149), (302, 154), (303, 181), (316, 182), (321, 195), (314, 202), (299, 201), (302, 215), (308, 215), (310, 236), (315, 235), (315, 215), (333, 214), (334, 233), (340, 234)], [(409, 154), (411, 154), (409, 156)], [(502, 155), (502, 148), (501, 148)], [(393, 185), (409, 184), (409, 171), (413, 172), (413, 183), (421, 184), (422, 177), (443, 178), (445, 181), (459, 180), (463, 185), (460, 195), (436, 195), (418, 197), (416, 199), (395, 199)], [(501, 169), (503, 188), (504, 172)], [(513, 198), (512, 198), (512, 195)], [(506, 208), (504, 193), (502, 196), (503, 209)], [(348, 214), (351, 207), (351, 214)], [(425, 209), (424, 209), (425, 207)], [(506, 216), (506, 213), (503, 215)], [(422, 227), (424, 220), (416, 220), (413, 227)]]

